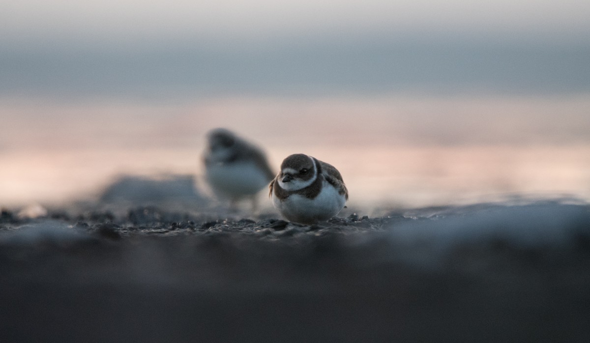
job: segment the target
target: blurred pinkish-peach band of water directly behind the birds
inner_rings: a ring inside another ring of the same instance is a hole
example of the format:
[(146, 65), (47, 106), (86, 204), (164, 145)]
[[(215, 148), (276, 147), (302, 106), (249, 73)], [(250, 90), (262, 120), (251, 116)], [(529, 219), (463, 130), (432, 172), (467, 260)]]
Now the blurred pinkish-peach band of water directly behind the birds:
[(219, 126), (276, 169), (291, 153), (332, 163), (353, 205), (589, 200), (588, 113), (586, 96), (6, 101), (0, 205), (93, 196), (122, 173), (198, 177), (204, 134)]

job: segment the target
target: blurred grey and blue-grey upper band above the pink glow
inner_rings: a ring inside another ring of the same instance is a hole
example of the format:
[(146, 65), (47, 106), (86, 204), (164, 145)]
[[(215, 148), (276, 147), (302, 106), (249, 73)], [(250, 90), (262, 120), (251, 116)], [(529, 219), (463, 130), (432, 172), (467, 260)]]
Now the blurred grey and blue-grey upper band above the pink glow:
[(4, 97), (590, 91), (590, 2), (3, 1)]

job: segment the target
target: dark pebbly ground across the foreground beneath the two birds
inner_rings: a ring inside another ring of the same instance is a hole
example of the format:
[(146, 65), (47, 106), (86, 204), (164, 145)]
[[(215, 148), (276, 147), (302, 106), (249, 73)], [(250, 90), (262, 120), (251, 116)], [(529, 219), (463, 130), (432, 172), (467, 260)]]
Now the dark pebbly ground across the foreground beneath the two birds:
[(4, 211), (0, 342), (587, 342), (590, 215), (571, 206), (565, 245), (500, 235), (442, 250), (391, 233), (471, 209), (314, 226)]

